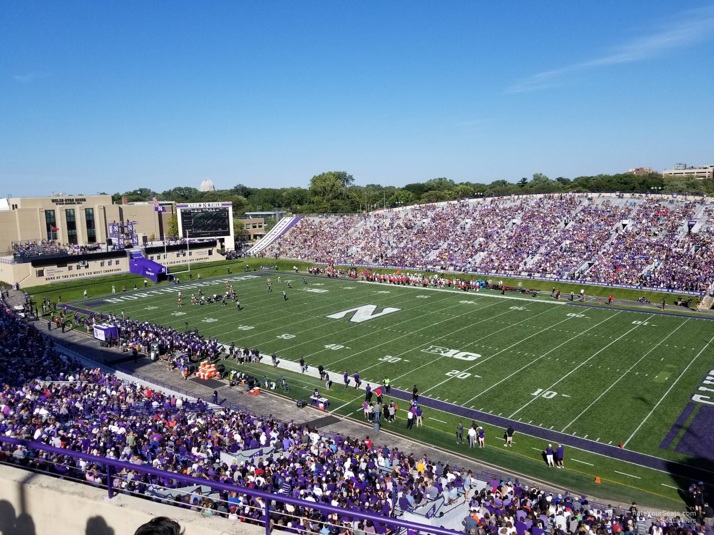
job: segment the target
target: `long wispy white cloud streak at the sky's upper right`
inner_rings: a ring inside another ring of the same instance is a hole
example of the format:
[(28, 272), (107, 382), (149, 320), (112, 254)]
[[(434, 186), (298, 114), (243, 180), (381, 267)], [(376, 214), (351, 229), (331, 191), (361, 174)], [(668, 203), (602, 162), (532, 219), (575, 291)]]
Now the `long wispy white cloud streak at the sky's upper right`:
[(573, 71), (643, 61), (671, 49), (693, 46), (705, 39), (711, 39), (713, 25), (714, 8), (685, 11), (675, 21), (660, 26), (659, 31), (655, 34), (642, 36), (629, 43), (615, 47), (608, 54), (604, 54), (599, 58), (534, 74), (506, 88), (506, 93), (525, 93), (526, 91), (538, 91), (555, 87), (562, 83), (565, 74)]

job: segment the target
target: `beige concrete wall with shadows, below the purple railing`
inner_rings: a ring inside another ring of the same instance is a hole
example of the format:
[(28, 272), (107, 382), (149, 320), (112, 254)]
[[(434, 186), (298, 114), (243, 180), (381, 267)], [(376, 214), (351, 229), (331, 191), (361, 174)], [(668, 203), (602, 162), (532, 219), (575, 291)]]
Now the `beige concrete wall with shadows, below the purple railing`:
[(0, 466), (2, 535), (132, 535), (154, 516), (178, 521), (186, 535), (265, 534), (262, 526), (123, 494), (109, 500), (104, 489)]

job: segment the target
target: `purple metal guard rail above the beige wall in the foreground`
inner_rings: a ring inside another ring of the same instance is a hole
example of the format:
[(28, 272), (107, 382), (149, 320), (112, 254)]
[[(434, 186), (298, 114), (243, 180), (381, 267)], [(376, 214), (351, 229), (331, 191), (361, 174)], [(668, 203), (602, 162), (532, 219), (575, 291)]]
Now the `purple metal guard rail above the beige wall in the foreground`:
[[(257, 489), (249, 489), (245, 486), (230, 485), (226, 483), (221, 483), (220, 481), (206, 481), (206, 479), (199, 479), (198, 477), (192, 477), (185, 474), (178, 474), (176, 472), (166, 472), (166, 470), (156, 469), (154, 467), (132, 464), (129, 462), (119, 461), (116, 459), (109, 459), (107, 457), (98, 457), (96, 455), (90, 455), (82, 452), (74, 452), (70, 449), (56, 448), (54, 446), (46, 446), (44, 444), (37, 444), (36, 442), (29, 442), (27, 440), (16, 439), (13, 437), (1, 437), (0, 444), (14, 444), (16, 446), (24, 446), (28, 449), (34, 449), (41, 452), (49, 452), (56, 455), (62, 455), (66, 457), (72, 457), (73, 459), (83, 459), (84, 461), (91, 462), (98, 466), (104, 467), (106, 473), (106, 489), (109, 494), (109, 499), (114, 497), (114, 478), (118, 477), (116, 474), (121, 472), (121, 470), (131, 470), (133, 472), (139, 472), (141, 474), (151, 474), (156, 477), (167, 477), (170, 475), (171, 479), (176, 479), (177, 481), (182, 481), (186, 486), (191, 485), (206, 485), (211, 486), (212, 489), (217, 489), (220, 491), (237, 492), (238, 494), (243, 494), (251, 496), (253, 498), (261, 498), (265, 501), (263, 507), (263, 517), (258, 519), (258, 522), (262, 521), (265, 524), (266, 535), (271, 533), (270, 524), (270, 506), (271, 501), (279, 501), (284, 504), (291, 504), (293, 506), (305, 507), (307, 509), (317, 509), (325, 516), (328, 514), (336, 513), (338, 516), (357, 516), (355, 511), (352, 509), (343, 509), (342, 507), (331, 506), (328, 504), (318, 504), (315, 501), (308, 501), (298, 498), (293, 498), (286, 494), (273, 494), (271, 492), (260, 491)], [(119, 493), (117, 493), (119, 494)], [(435, 526), (427, 526), (425, 524), (417, 524), (416, 522), (411, 522), (407, 520), (400, 520), (392, 518), (390, 516), (381, 516), (373, 513), (361, 512), (359, 518), (363, 520), (371, 520), (373, 523), (385, 524), (395, 529), (406, 529), (417, 531), (418, 533), (431, 533), (433, 535), (463, 535), (459, 531), (453, 531), (451, 529), (443, 529)], [(330, 524), (326, 522), (326, 524)], [(333, 524), (331, 524), (333, 525)], [(338, 526), (339, 527), (339, 526)]]

